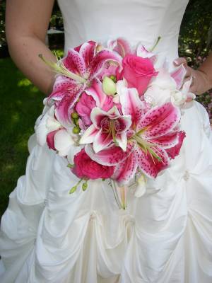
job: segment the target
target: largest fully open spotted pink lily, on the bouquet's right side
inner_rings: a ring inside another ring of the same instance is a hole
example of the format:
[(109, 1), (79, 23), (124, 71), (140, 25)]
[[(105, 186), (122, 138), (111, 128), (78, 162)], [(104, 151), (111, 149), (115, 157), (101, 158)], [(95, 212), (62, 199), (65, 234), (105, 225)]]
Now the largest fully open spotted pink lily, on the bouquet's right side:
[(94, 161), (116, 166), (112, 178), (122, 184), (129, 183), (138, 170), (149, 178), (156, 178), (169, 166), (170, 158), (165, 149), (178, 144), (179, 131), (176, 127), (180, 120), (179, 108), (172, 103), (145, 112), (136, 89), (125, 88), (124, 91), (124, 96), (121, 96), (121, 100), (125, 101), (125, 104), (121, 101), (122, 112), (131, 115), (132, 120), (126, 153), (122, 154), (121, 149), (114, 146), (96, 153), (91, 146), (86, 146), (86, 153)]

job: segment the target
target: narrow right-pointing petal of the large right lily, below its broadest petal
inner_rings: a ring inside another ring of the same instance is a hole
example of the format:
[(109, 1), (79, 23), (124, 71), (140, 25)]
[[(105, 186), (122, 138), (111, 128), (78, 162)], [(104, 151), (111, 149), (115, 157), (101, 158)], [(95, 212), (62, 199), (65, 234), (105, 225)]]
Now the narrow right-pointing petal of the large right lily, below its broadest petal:
[(157, 144), (158, 146), (163, 147), (163, 149), (170, 149), (170, 147), (178, 144), (178, 134), (178, 132), (171, 132), (170, 134), (165, 134), (165, 136), (148, 140), (148, 142)]

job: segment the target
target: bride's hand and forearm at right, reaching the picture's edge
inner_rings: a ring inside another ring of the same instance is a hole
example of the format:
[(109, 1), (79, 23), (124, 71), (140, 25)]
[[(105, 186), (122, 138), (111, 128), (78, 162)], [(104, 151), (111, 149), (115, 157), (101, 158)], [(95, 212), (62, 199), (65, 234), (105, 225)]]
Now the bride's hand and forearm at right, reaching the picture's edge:
[(195, 94), (202, 94), (212, 88), (212, 52), (198, 69), (192, 69), (187, 65), (185, 58), (178, 58), (175, 65), (184, 64), (187, 69), (186, 77), (193, 76), (193, 83), (190, 90)]

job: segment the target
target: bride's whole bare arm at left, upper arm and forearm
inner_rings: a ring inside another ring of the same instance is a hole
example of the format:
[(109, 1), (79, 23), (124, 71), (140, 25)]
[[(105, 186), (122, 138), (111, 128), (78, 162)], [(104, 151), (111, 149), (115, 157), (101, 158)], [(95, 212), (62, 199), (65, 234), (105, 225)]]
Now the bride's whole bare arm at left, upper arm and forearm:
[(56, 61), (45, 45), (45, 36), (54, 0), (7, 0), (6, 38), (9, 52), (18, 68), (44, 93), (49, 93), (54, 73), (38, 54)]

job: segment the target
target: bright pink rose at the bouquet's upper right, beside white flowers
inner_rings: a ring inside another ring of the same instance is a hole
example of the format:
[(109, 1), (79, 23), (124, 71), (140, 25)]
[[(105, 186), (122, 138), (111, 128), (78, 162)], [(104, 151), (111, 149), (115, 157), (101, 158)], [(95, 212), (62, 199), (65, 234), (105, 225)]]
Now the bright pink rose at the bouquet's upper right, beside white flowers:
[(142, 96), (151, 78), (156, 76), (151, 59), (142, 58), (133, 54), (128, 54), (122, 61), (123, 76), (129, 88), (137, 88), (139, 96)]

